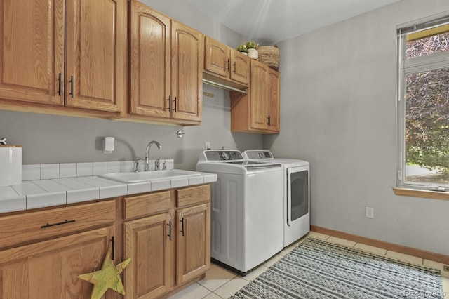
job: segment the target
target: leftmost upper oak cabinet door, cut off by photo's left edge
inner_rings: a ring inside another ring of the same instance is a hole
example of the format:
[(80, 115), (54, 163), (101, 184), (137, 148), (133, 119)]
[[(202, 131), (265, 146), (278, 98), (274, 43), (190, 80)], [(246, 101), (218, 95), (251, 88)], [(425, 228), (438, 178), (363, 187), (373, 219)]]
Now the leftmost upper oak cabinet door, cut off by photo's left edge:
[(63, 105), (64, 0), (0, 1), (0, 98)]

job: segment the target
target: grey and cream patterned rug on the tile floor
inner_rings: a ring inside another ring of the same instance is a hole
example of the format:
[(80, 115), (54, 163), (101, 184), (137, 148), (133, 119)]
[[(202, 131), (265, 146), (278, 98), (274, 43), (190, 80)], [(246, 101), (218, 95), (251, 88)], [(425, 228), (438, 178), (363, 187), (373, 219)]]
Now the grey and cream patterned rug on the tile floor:
[(439, 270), (309, 238), (231, 298), (443, 297)]

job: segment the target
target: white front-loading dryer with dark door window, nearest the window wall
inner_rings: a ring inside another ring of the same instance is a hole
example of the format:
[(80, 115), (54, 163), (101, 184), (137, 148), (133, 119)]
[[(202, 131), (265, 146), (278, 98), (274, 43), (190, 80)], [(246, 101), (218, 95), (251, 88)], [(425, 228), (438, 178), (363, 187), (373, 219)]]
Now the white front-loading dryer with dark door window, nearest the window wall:
[(272, 161), (283, 166), (285, 216), (283, 245), (288, 246), (310, 231), (310, 165), (297, 159), (277, 159), (269, 150), (247, 150), (243, 159)]

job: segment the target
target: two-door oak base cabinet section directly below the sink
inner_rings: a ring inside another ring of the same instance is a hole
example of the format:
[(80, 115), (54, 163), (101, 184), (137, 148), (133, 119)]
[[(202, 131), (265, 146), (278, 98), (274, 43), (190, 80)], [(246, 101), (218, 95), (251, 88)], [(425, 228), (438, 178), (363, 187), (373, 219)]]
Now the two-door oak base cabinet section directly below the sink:
[[(210, 185), (171, 192), (170, 208), (125, 219), (126, 299), (159, 298), (210, 267)], [(147, 202), (142, 199), (147, 198)], [(125, 198), (125, 208), (165, 202), (166, 191)]]

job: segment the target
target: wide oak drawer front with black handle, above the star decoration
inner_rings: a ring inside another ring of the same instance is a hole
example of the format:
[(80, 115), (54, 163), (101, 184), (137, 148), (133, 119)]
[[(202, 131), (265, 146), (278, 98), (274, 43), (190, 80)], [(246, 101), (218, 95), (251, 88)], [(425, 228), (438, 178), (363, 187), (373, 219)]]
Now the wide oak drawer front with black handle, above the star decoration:
[(51, 208), (0, 218), (0, 248), (57, 237), (115, 220), (115, 201)]

